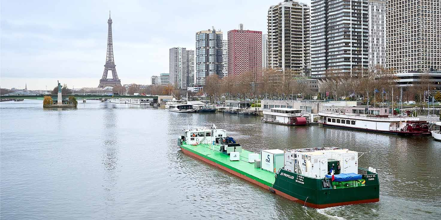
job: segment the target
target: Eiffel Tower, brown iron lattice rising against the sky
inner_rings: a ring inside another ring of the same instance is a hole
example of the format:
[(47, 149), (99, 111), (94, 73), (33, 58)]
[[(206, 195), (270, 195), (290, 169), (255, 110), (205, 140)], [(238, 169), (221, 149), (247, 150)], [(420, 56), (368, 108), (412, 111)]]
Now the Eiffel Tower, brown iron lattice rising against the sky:
[[(106, 55), (106, 64), (104, 65), (103, 77), (100, 80), (100, 84), (98, 88), (105, 88), (108, 86), (115, 87), (121, 86), (121, 80), (118, 79), (118, 74), (116, 74), (116, 65), (115, 60), (113, 59), (113, 43), (112, 43), (112, 19), (110, 18), (109, 11), (109, 19), (107, 20), (108, 24), (108, 33), (107, 33), (107, 55)], [(107, 78), (108, 71), (112, 71), (112, 79)]]

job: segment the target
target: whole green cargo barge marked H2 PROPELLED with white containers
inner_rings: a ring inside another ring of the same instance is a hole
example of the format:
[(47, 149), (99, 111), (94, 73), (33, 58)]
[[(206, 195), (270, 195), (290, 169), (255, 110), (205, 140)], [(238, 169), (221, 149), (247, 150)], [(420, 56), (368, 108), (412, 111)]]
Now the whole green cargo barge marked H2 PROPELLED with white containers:
[(193, 128), (178, 139), (183, 153), (280, 194), (321, 209), (378, 202), (375, 169), (358, 167), (358, 152), (336, 147), (243, 150), (224, 129)]

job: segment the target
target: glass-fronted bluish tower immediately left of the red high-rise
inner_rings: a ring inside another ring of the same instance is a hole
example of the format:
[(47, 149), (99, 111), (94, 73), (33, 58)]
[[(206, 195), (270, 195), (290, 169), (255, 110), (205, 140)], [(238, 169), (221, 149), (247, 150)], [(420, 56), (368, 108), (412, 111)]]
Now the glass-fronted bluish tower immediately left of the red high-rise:
[(206, 78), (211, 75), (222, 77), (222, 44), (221, 31), (208, 29), (196, 33), (195, 85), (205, 85)]

